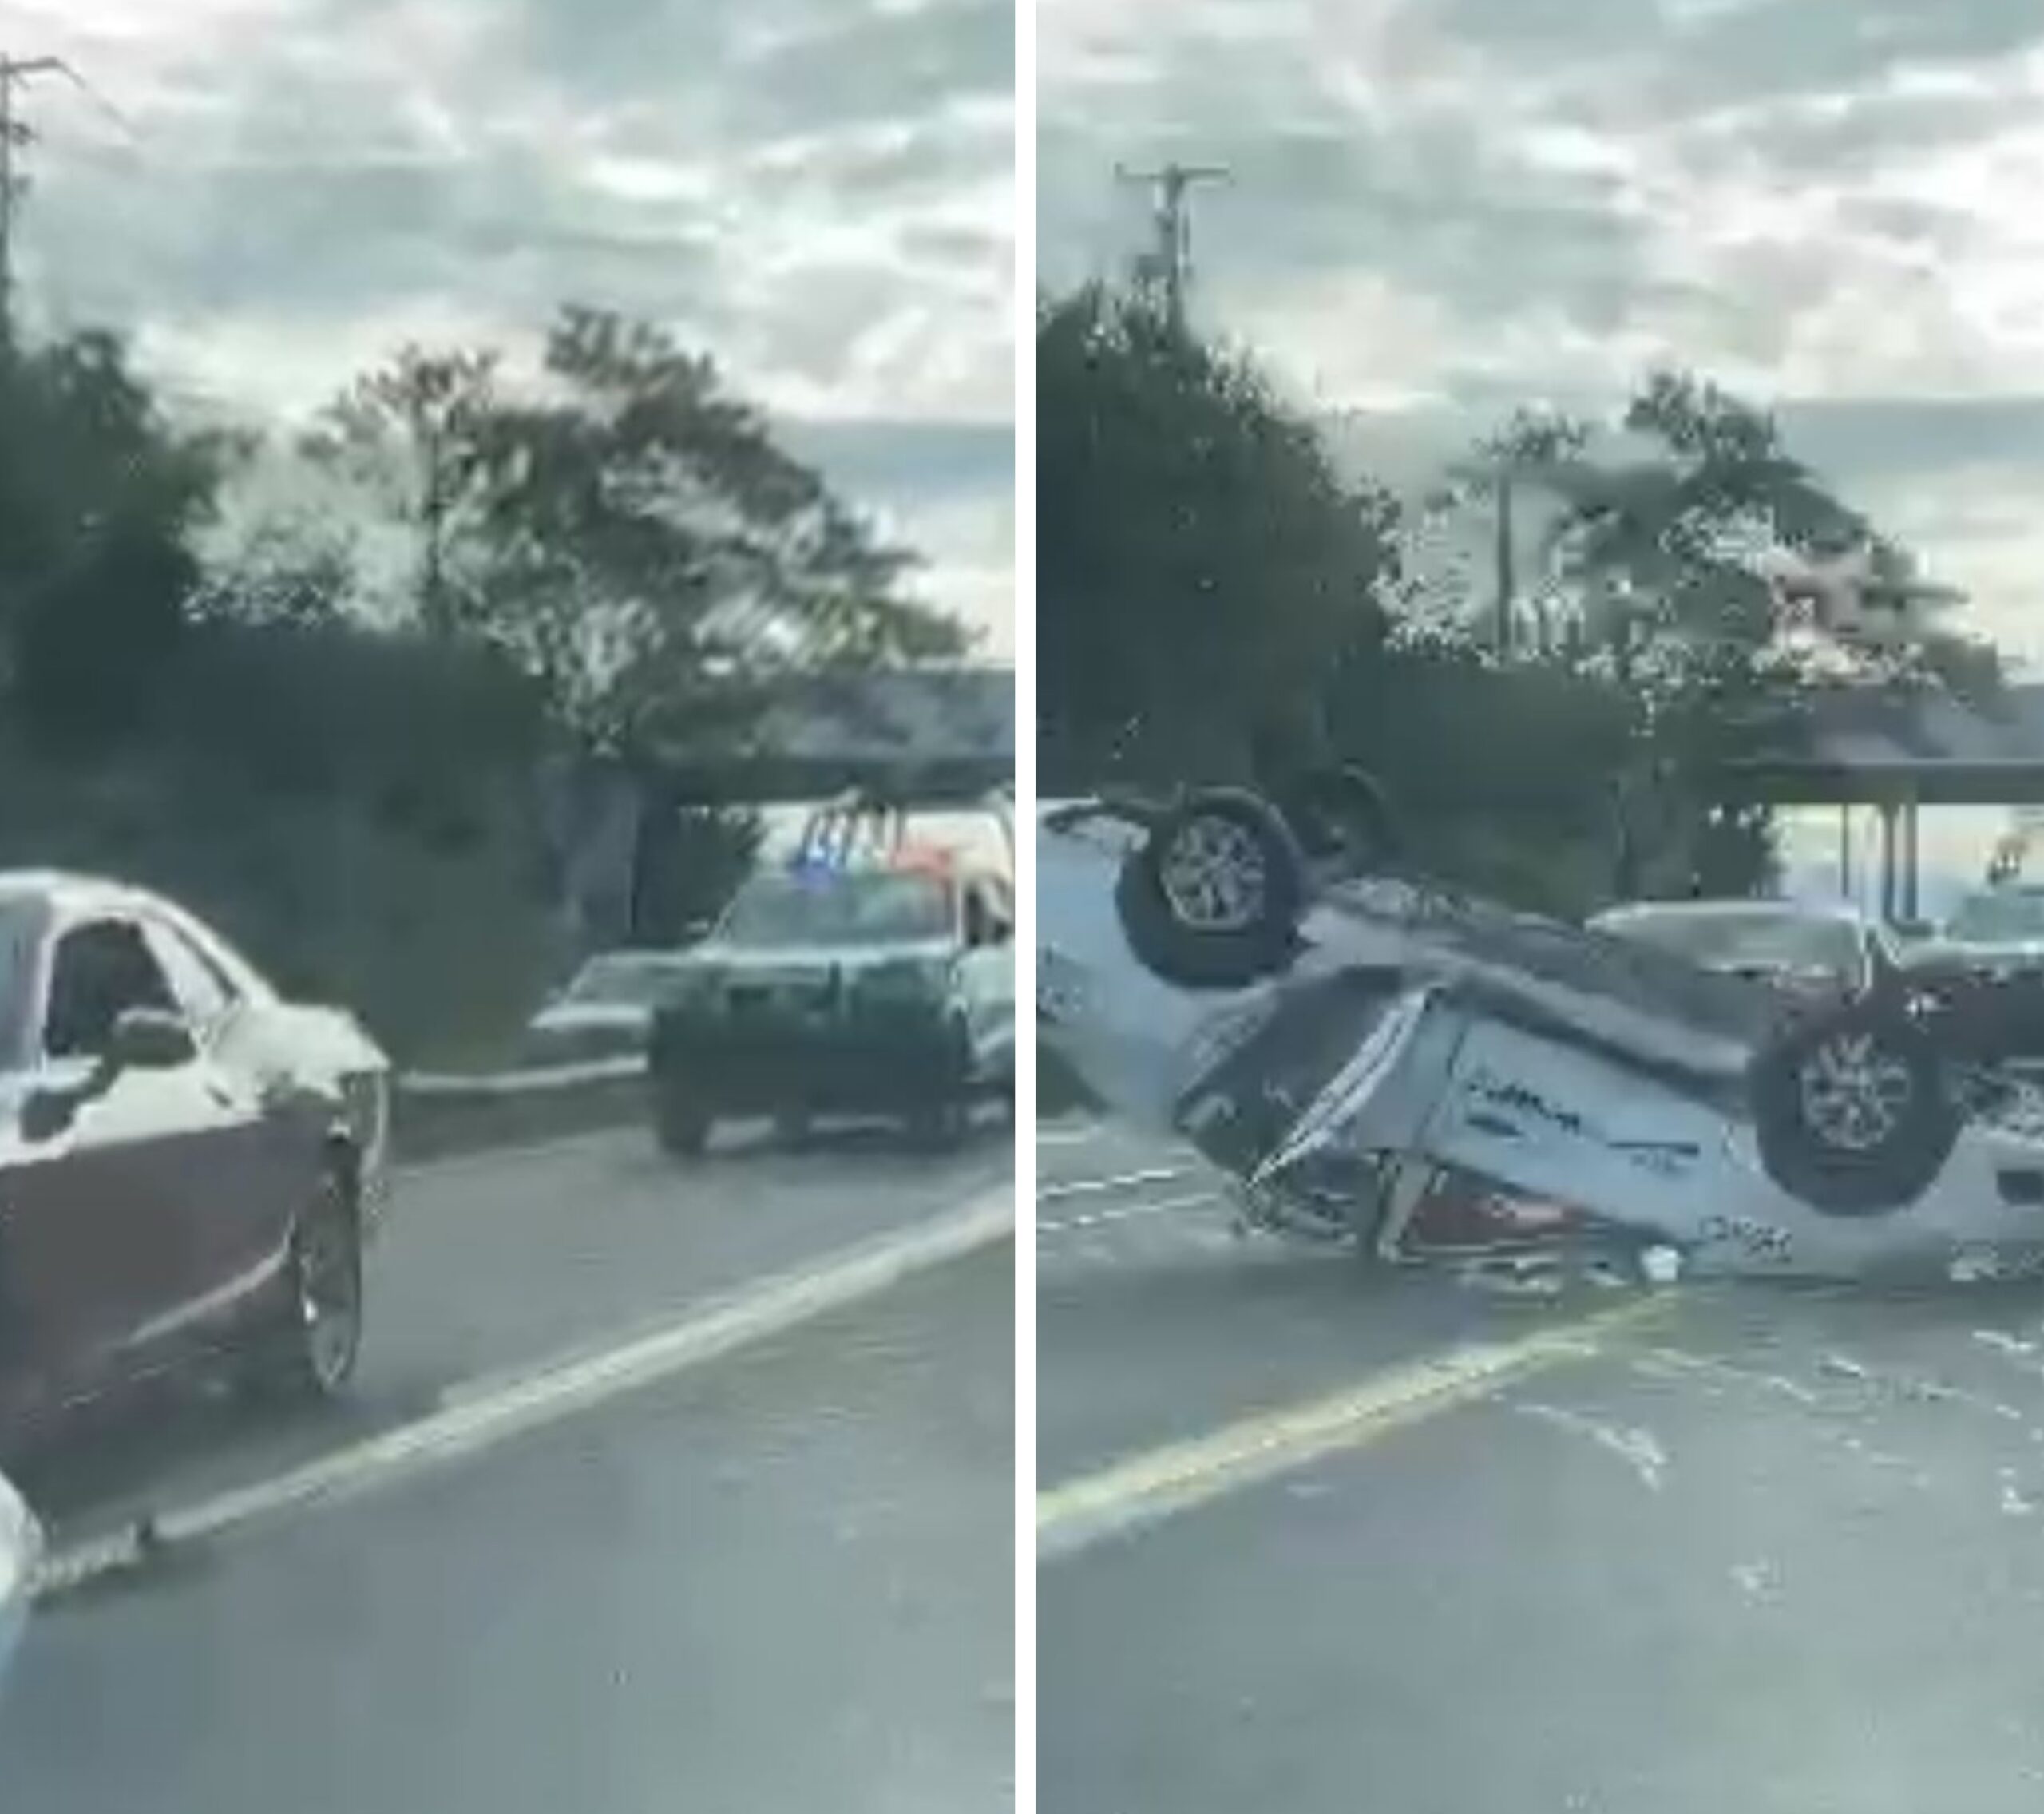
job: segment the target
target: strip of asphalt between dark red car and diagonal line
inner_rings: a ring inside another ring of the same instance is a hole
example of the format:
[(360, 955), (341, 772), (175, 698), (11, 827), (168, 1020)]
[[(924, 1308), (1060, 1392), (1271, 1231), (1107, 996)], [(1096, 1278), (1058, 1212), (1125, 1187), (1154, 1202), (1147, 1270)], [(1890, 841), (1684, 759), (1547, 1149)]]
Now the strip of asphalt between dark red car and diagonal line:
[(411, 1168), (370, 1254), (362, 1369), (345, 1403), (278, 1418), (180, 1393), (125, 1407), (22, 1469), (22, 1489), (57, 1540), (76, 1542), (262, 1481), (450, 1395), (924, 1222), (1010, 1183), (1010, 1154), (997, 1124), (946, 1158), (905, 1152), (883, 1130), (832, 1130), (801, 1152), (740, 1130), (677, 1164), (628, 1128)]

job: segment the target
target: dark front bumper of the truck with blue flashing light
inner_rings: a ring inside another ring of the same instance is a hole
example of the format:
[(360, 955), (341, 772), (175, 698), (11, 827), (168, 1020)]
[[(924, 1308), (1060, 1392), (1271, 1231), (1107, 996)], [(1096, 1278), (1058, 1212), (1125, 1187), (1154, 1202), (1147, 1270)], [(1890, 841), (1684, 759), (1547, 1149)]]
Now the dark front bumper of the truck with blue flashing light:
[(971, 1060), (936, 1011), (826, 1025), (687, 1021), (654, 1040), (656, 1081), (717, 1113), (887, 1109), (971, 1087)]

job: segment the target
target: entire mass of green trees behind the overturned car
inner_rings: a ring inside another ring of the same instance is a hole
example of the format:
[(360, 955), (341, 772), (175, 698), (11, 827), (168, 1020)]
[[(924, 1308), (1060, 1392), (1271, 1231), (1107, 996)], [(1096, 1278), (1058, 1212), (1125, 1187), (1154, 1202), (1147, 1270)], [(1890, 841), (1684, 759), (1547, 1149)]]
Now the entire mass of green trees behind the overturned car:
[(1772, 821), (1717, 805), (1725, 760), (1793, 750), (1825, 686), (1999, 684), (1936, 625), (1805, 633), (1764, 552), (1858, 547), (1889, 580), (1909, 552), (1694, 372), (1647, 374), (1602, 425), (1631, 451), (1521, 409), (1455, 462), (1423, 509), (1492, 531), (1496, 584), (1441, 629), (1406, 609), (1392, 498), (1249, 357), (1094, 288), (1040, 304), (1036, 366), (1047, 786), (1130, 748), (1169, 780), (1341, 754), (1412, 803), (1427, 860), (1504, 895), (1739, 893)]

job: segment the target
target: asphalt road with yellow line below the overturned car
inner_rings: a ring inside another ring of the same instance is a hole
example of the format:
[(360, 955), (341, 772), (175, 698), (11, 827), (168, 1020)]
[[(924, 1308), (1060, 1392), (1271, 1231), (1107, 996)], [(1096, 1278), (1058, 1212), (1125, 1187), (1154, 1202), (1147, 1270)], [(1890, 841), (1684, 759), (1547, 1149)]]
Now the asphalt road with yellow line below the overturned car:
[(1038, 1152), (1044, 1814), (2044, 1806), (2044, 1293), (1506, 1299)]

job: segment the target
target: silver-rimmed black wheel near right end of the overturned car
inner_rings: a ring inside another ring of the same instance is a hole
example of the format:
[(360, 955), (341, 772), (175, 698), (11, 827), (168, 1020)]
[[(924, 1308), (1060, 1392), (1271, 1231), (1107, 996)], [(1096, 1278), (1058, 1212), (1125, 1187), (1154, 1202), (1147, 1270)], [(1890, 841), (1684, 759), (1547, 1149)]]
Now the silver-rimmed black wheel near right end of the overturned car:
[(1962, 1113), (1938, 1044), (1893, 1005), (1791, 1025), (1748, 1075), (1760, 1158), (1825, 1215), (1885, 1215), (1944, 1171)]

